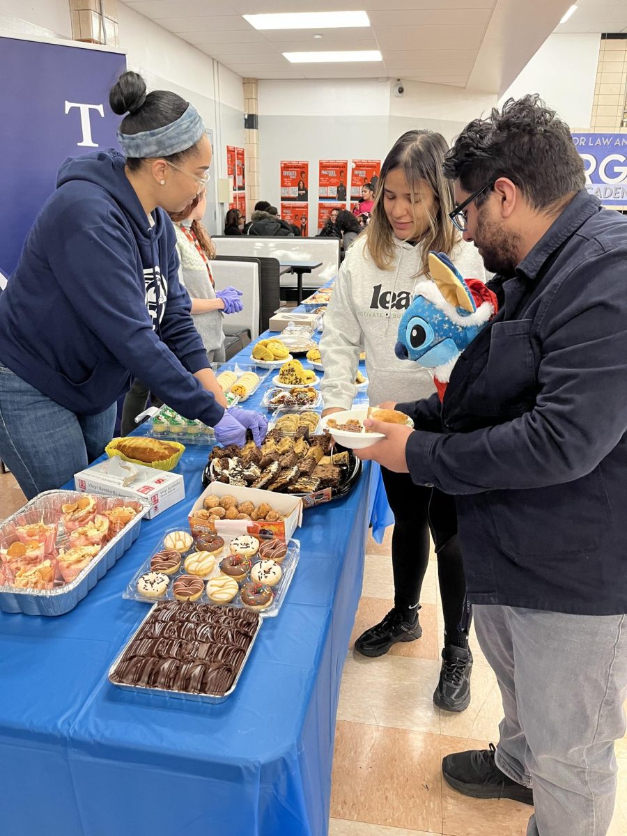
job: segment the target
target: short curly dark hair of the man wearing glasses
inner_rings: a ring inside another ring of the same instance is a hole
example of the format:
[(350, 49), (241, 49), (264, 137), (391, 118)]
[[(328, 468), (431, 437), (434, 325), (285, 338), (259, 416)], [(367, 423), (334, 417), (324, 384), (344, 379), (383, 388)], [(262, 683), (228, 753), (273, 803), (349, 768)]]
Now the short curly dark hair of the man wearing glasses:
[[(546, 209), (585, 186), (584, 161), (568, 125), (537, 93), (507, 99), (487, 119), (472, 120), (444, 161), (444, 176), (477, 191), (507, 177), (534, 209)], [(477, 206), (491, 190), (477, 198)]]

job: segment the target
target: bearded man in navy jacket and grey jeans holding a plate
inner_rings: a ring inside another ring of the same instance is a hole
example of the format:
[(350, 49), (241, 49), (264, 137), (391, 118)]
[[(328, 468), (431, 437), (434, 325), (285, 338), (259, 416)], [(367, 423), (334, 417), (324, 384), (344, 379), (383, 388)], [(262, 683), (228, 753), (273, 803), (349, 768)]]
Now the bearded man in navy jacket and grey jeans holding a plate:
[(497, 675), (496, 748), (442, 762), (475, 798), (535, 805), (528, 836), (603, 836), (627, 697), (627, 218), (584, 189), (568, 125), (538, 96), (449, 151), (451, 220), (499, 311), (444, 400), (396, 405), (366, 449), (456, 496), (477, 637)]

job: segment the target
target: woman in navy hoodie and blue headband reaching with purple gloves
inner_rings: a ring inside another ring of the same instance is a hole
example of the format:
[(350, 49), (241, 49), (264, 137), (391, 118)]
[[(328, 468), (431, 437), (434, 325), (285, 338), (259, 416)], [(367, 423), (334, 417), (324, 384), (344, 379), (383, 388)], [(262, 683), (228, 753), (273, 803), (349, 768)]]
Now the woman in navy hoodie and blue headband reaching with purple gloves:
[(132, 377), (218, 441), (262, 441), (267, 421), (226, 410), (178, 281), (180, 212), (206, 186), (200, 115), (125, 73), (110, 91), (125, 154), (68, 160), (0, 295), (0, 458), (27, 497), (101, 455)]

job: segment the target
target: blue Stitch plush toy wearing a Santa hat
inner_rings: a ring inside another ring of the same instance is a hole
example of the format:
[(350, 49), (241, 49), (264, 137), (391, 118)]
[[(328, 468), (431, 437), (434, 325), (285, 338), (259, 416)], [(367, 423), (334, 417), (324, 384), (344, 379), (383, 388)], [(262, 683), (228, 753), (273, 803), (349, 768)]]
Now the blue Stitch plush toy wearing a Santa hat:
[(400, 320), (395, 354), (433, 375), (440, 399), (457, 358), (497, 312), (497, 297), (477, 278), (462, 278), (443, 252), (429, 253), (432, 279), (422, 279)]

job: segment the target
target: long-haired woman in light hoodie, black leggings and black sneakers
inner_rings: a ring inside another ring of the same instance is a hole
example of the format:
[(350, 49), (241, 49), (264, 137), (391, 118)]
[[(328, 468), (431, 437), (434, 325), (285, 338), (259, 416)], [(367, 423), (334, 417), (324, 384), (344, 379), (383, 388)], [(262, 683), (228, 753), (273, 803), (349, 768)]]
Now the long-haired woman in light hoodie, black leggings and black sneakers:
[[(446, 252), (463, 276), (485, 280), (481, 257), (461, 240), (448, 218), (453, 191), (442, 175), (446, 150), (441, 134), (410, 130), (385, 158), (372, 220), (346, 253), (324, 316), (320, 340), (323, 415), (350, 409), (362, 346), (370, 404), (386, 405), (390, 398), (405, 400), (435, 391), (426, 369), (397, 359), (394, 351), (398, 324), (411, 303), (415, 283), (429, 274), (429, 252)], [(355, 650), (380, 656), (396, 642), (421, 637), (418, 610), (429, 565), (431, 526), (445, 631), (440, 680), (433, 698), (441, 708), (463, 711), (471, 698), (472, 655), (455, 500), (430, 485), (414, 484), (406, 473), (385, 467), (381, 472), (395, 516), (394, 607), (359, 636)]]

